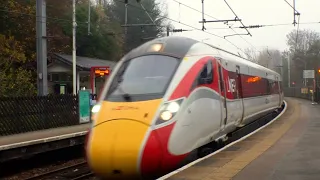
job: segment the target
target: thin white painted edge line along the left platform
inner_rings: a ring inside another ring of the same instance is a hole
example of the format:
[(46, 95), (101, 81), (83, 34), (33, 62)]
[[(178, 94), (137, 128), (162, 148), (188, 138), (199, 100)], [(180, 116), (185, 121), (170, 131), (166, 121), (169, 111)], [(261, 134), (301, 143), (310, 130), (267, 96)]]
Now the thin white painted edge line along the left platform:
[(31, 141), (24, 141), (24, 142), (19, 142), (19, 143), (2, 145), (2, 146), (0, 146), (0, 151), (12, 149), (12, 148), (17, 148), (17, 147), (29, 146), (29, 145), (33, 145), (33, 144), (40, 144), (40, 143), (46, 143), (46, 142), (50, 142), (50, 141), (67, 139), (67, 138), (72, 138), (72, 137), (76, 137), (76, 136), (82, 136), (82, 135), (85, 135), (87, 132), (88, 131), (81, 131), (81, 132), (76, 132), (76, 133), (69, 133), (69, 134), (64, 134), (64, 135), (52, 136), (52, 137), (48, 137), (48, 138), (35, 139), (35, 140), (31, 140)]

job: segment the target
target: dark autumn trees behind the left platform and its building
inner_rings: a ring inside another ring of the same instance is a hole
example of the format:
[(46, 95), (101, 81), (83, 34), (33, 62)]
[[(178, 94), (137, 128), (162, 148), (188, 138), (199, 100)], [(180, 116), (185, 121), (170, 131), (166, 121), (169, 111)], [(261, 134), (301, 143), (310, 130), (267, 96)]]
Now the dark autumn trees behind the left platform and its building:
[[(91, 4), (88, 34), (88, 0), (76, 1), (77, 55), (106, 60), (120, 59), (124, 52), (144, 43), (141, 38), (159, 37), (165, 32), (166, 13), (155, 0), (141, 1), (157, 26), (128, 28), (124, 35), (124, 4), (121, 0), (100, 0)], [(46, 0), (47, 52), (72, 52), (72, 2)], [(109, 2), (109, 3), (108, 3)], [(0, 93), (1, 96), (34, 94), (36, 91), (36, 1), (0, 0)], [(151, 24), (141, 6), (130, 1), (129, 24)], [(124, 48), (126, 47), (126, 48)]]

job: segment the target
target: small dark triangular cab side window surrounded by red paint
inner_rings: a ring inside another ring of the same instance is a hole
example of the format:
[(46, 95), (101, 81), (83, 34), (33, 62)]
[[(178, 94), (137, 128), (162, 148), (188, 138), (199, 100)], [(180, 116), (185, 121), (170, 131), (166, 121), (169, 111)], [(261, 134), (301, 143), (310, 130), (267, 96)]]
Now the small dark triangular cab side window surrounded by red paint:
[(209, 60), (200, 70), (198, 76), (193, 82), (191, 89), (194, 89), (195, 87), (200, 85), (211, 84), (212, 82), (213, 82), (213, 67), (212, 67), (212, 61)]

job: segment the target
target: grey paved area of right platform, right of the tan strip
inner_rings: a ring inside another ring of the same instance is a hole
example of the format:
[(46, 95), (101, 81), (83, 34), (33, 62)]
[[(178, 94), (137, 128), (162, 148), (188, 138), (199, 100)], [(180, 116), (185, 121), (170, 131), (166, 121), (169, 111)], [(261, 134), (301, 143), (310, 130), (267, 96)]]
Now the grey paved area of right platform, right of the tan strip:
[(320, 106), (293, 99), (301, 109), (297, 121), (264, 154), (246, 166), (234, 180), (319, 180)]

